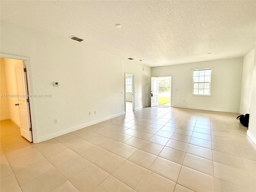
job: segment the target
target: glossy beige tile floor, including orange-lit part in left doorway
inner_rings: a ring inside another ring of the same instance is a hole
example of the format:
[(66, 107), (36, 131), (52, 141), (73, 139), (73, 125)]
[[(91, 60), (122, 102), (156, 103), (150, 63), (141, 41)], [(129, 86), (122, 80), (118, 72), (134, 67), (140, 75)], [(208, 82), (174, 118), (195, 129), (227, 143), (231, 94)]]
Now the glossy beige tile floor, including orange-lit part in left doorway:
[(256, 146), (238, 114), (142, 108), (31, 144), (1, 121), (1, 191), (250, 192)]

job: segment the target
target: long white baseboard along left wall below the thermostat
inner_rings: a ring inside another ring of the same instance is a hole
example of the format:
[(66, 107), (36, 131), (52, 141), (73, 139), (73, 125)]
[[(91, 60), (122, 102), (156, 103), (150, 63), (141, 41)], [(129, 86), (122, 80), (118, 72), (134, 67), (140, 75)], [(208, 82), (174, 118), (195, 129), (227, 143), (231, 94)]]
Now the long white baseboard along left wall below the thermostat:
[(76, 131), (76, 130), (79, 130), (79, 129), (82, 129), (82, 128), (85, 128), (85, 127), (88, 127), (88, 126), (91, 126), (91, 125), (94, 125), (94, 124), (97, 124), (97, 123), (100, 123), (102, 121), (106, 121), (106, 120), (112, 119), (114, 117), (124, 115), (124, 114), (125, 114), (125, 112), (120, 112), (120, 113), (110, 115), (110, 116), (107, 116), (107, 117), (104, 117), (104, 118), (101, 118), (101, 119), (97, 119), (97, 120), (94, 120), (94, 121), (91, 121), (91, 122), (87, 122), (87, 123), (82, 124), (82, 125), (74, 126), (74, 127), (59, 131), (59, 132), (48, 134), (46, 136), (39, 137), (37, 141), (38, 141), (38, 143), (40, 143), (40, 142), (43, 142), (43, 141), (46, 141), (46, 140), (49, 140), (49, 139), (52, 139), (52, 138), (55, 138), (55, 137), (73, 132), (73, 131)]

